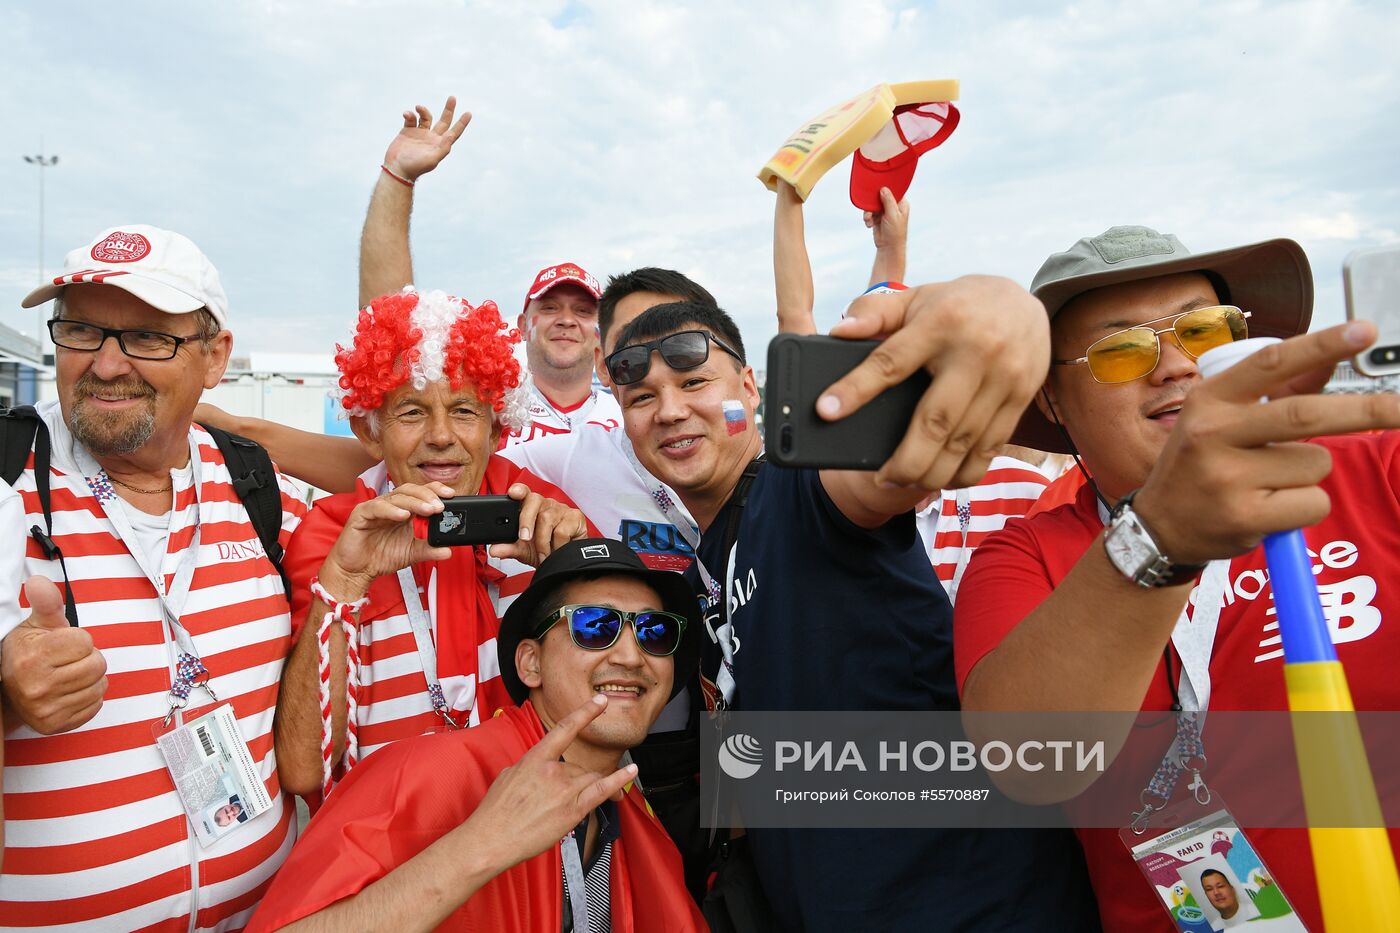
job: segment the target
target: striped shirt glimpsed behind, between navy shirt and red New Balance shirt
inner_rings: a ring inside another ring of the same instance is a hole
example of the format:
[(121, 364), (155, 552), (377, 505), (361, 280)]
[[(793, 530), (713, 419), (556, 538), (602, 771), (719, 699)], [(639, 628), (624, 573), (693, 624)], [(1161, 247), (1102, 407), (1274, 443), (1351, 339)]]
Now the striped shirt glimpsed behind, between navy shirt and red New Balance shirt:
[(945, 489), (917, 518), (928, 559), (938, 581), (952, 600), (962, 572), (977, 545), (1008, 518), (1026, 514), (1050, 479), (1036, 466), (1015, 457), (994, 457), (976, 486)]

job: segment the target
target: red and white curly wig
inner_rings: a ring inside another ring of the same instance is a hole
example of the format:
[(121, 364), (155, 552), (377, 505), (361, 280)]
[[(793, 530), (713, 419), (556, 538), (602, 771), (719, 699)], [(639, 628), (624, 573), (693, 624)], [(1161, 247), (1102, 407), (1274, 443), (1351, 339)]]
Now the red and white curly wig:
[(512, 346), (521, 335), (501, 321), (494, 301), (472, 307), (442, 291), (412, 287), (375, 298), (360, 312), (354, 340), (336, 345), (340, 405), (370, 416), (405, 382), (423, 389), (447, 380), (470, 384), (507, 430), (519, 430), (529, 408)]

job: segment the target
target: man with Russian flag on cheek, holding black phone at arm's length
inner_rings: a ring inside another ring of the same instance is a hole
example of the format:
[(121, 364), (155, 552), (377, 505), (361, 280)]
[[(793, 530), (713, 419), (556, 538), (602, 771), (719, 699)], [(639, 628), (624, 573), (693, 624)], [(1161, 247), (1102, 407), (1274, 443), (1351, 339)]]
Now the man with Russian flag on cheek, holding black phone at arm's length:
[[(715, 646), (706, 640), (701, 668), (711, 709), (958, 709), (952, 611), (913, 507), (924, 483), (976, 481), (1005, 440), (994, 402), (1012, 406), (1009, 431), (1044, 371), (1039, 314), (1025, 291), (995, 279), (853, 305), (836, 333), (893, 333), (881, 354), (885, 378), (903, 378), (902, 364), (931, 364), (986, 394), (986, 408), (959, 408), (970, 401), (967, 384), (949, 380), (925, 398), (928, 416), (882, 474), (762, 464), (757, 387), (724, 311), (664, 304), (622, 329), (606, 363), (623, 426), (641, 464), (701, 530), (689, 574), (710, 605)], [(867, 398), (882, 388), (869, 368), (855, 371), (823, 410), (854, 410), (853, 387)], [(781, 929), (1095, 929), (1068, 834), (766, 828), (731, 841), (731, 857), (742, 846), (771, 905), (769, 922)], [(840, 883), (813, 883), (830, 878)]]

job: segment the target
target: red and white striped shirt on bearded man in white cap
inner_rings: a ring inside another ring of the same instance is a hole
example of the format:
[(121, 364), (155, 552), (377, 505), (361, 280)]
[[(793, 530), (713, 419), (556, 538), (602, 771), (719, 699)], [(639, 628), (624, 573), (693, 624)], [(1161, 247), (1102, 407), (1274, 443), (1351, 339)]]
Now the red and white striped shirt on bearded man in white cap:
[[(171, 579), (197, 525), (195, 573), (181, 619), (220, 702), (232, 705), (273, 799), (270, 811), (202, 848), (153, 734), (168, 709), (179, 650), (154, 584), (97, 499), (111, 495), (111, 486), (84, 478), (78, 457), (85, 452), (74, 451), (57, 402), (38, 409), (53, 448), (53, 538), (67, 559), (78, 622), (106, 658), (108, 688), (102, 709), (81, 727), (39, 735), (18, 726), (4, 740), (0, 926), (241, 929), (295, 838), (294, 810), (277, 783), (272, 731), (290, 646), (281, 579), (232, 490), (214, 440), (193, 426), (199, 469), (172, 474), (174, 509), (160, 572)], [(291, 483), (279, 481), (286, 542), (305, 506)], [(46, 560), (32, 539), (20, 544), (25, 528), (43, 527), (32, 458), (15, 489), (25, 516), (22, 524), (4, 527), (7, 546), (27, 548), (24, 576), (46, 576), (62, 587), (57, 560)], [(196, 689), (181, 721), (216, 706)]]

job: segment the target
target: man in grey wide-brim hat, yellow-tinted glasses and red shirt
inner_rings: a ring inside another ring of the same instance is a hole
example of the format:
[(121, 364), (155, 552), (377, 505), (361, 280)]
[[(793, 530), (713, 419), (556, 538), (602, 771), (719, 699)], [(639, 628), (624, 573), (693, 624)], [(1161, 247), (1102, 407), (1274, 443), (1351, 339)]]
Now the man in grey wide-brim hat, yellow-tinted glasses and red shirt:
[[(1292, 528), (1357, 709), (1400, 709), (1400, 628), (1386, 623), (1400, 615), (1400, 434), (1340, 436), (1400, 426), (1400, 403), (1312, 394), (1375, 328), (1294, 336), (1308, 329), (1312, 276), (1291, 240), (1191, 254), (1176, 237), (1113, 227), (1050, 256), (1032, 293), (1054, 366), (1014, 440), (1077, 452), (1091, 481), (973, 556), (956, 618), (965, 709), (1288, 709), (1257, 545)], [(1292, 339), (1203, 380), (1200, 354), (1246, 335)], [(1124, 735), (1107, 738), (1117, 748)], [(1205, 780), (1247, 773), (1211, 749), (1208, 728), (1204, 741)], [(1147, 786), (1165, 749), (1135, 751), (1114, 768)], [(1042, 780), (1008, 790), (1042, 801), (1078, 790)], [(1249, 836), (1322, 929), (1303, 831)], [(1106, 929), (1173, 929), (1113, 829), (1079, 838)]]

